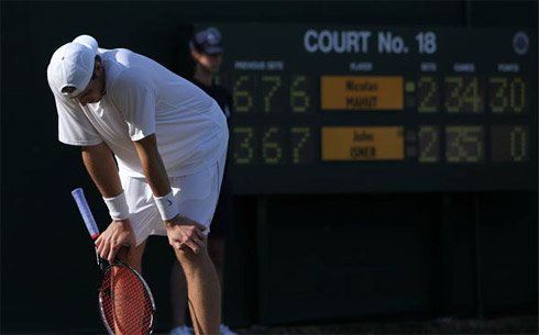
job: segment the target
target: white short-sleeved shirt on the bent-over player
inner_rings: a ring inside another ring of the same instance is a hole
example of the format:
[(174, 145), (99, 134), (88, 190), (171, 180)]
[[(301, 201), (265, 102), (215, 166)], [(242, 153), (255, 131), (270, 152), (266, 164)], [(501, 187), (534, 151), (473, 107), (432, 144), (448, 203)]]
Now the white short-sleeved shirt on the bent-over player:
[(190, 81), (128, 49), (99, 49), (107, 93), (79, 104), (53, 89), (58, 139), (77, 146), (105, 142), (121, 175), (144, 177), (133, 141), (156, 134), (169, 177), (213, 164), (227, 149), (227, 120), (217, 102)]

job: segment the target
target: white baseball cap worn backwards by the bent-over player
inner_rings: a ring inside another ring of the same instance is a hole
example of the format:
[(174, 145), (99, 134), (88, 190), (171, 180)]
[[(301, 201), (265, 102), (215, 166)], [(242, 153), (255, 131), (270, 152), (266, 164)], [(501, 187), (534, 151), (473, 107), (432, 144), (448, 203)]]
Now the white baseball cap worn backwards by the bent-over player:
[[(68, 98), (77, 97), (90, 82), (97, 54), (97, 41), (89, 35), (80, 35), (56, 49), (47, 68), (53, 89)], [(66, 87), (75, 90), (67, 92)]]

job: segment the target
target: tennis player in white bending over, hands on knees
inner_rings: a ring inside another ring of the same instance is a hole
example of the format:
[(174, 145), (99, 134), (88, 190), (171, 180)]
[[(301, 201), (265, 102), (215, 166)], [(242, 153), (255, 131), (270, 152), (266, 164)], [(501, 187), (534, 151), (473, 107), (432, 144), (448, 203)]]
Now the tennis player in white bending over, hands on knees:
[(217, 102), (156, 62), (98, 48), (88, 35), (56, 49), (47, 79), (58, 138), (81, 148), (112, 219), (96, 241), (100, 256), (141, 270), (148, 235), (166, 235), (186, 275), (195, 333), (219, 334), (207, 236), (229, 134)]

